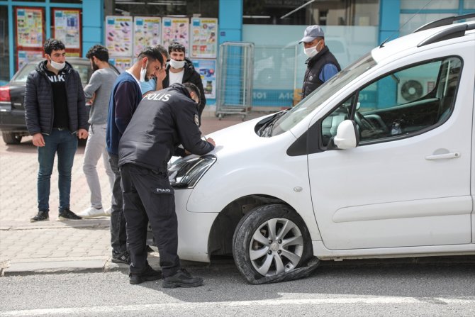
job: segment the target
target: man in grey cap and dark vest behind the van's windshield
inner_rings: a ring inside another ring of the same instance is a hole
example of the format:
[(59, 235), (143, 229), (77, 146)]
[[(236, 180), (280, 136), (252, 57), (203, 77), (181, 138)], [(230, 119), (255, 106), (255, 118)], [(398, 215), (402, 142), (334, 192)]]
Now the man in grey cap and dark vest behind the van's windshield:
[(325, 45), (325, 38), (320, 26), (308, 26), (303, 32), (303, 38), (298, 44), (303, 43), (307, 69), (303, 77), (302, 99), (320, 87), (331, 77), (340, 72), (340, 64)]

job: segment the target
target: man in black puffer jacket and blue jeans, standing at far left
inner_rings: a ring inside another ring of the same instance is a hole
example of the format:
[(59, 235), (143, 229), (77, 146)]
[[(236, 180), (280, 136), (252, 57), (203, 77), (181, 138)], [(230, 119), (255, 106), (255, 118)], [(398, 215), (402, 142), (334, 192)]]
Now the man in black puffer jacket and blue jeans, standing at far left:
[(87, 138), (87, 112), (79, 73), (66, 62), (65, 45), (49, 39), (46, 60), (28, 74), (25, 119), (33, 145), (38, 147), (38, 214), (31, 221), (49, 219), (50, 177), (55, 155), (60, 190), (60, 220), (81, 219), (69, 210), (71, 170), (77, 138)]

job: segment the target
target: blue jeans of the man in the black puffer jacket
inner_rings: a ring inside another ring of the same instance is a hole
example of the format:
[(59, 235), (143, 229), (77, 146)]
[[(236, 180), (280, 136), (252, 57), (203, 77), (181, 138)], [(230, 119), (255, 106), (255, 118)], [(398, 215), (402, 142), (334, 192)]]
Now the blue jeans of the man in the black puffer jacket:
[(38, 147), (38, 210), (50, 210), (50, 179), (57, 153), (58, 189), (60, 211), (69, 209), (71, 193), (71, 170), (77, 150), (77, 136), (69, 130), (53, 129), (50, 135), (43, 134), (45, 146)]

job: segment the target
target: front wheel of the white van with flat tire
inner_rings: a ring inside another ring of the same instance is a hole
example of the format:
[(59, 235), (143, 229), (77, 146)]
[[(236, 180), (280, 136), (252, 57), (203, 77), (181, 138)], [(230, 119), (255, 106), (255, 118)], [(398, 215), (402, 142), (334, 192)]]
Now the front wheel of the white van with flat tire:
[(248, 281), (291, 272), (311, 255), (308, 229), (286, 205), (255, 208), (241, 219), (233, 236), (234, 260)]

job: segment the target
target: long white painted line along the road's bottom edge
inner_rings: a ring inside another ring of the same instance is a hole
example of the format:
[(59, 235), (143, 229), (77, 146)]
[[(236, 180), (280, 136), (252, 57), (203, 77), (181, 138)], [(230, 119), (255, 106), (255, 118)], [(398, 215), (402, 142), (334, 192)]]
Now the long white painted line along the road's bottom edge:
[(89, 313), (113, 313), (117, 311), (169, 311), (186, 309), (212, 309), (225, 307), (248, 307), (248, 306), (278, 306), (278, 305), (325, 305), (325, 304), (455, 304), (455, 305), (474, 305), (475, 297), (464, 297), (462, 299), (445, 299), (440, 297), (431, 297), (417, 299), (414, 297), (396, 297), (396, 296), (361, 296), (345, 298), (318, 298), (318, 299), (266, 299), (262, 301), (213, 301), (201, 303), (169, 303), (169, 304), (144, 304), (144, 305), (124, 305), (124, 306), (92, 306), (92, 307), (70, 307), (70, 308), (42, 308), (29, 309), (23, 311), (2, 311), (0, 316), (53, 316), (53, 315), (82, 315)]

